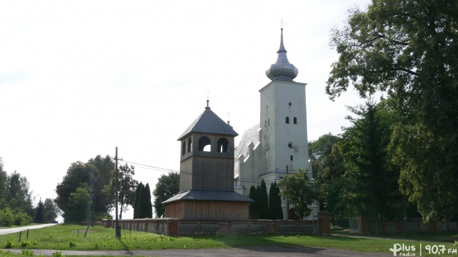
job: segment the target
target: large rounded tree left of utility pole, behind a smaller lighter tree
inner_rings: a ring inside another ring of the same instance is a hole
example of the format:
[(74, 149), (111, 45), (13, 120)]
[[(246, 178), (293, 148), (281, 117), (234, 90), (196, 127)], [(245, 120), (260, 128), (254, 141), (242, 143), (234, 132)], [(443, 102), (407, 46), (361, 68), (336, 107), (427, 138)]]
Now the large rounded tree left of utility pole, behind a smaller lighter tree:
[(97, 155), (87, 163), (80, 161), (70, 165), (62, 182), (57, 184), (57, 197), (55, 202), (64, 212), (73, 211), (69, 209), (70, 194), (76, 192), (76, 189), (82, 184), (88, 185), (91, 194), (96, 196), (95, 215), (107, 215), (114, 206), (114, 190), (110, 187), (113, 180), (113, 171), (115, 164), (110, 156), (101, 157)]

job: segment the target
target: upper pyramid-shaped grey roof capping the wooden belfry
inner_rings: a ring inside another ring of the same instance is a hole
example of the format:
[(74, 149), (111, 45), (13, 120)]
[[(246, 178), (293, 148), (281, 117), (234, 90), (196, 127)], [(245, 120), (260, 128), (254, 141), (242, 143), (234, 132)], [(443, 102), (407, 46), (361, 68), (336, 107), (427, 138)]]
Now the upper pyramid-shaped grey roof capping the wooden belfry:
[(178, 137), (178, 141), (180, 141), (183, 137), (188, 136), (192, 132), (202, 132), (202, 133), (209, 133), (209, 134), (221, 134), (221, 135), (231, 135), (231, 136), (238, 136), (237, 132), (234, 131), (232, 126), (228, 123), (221, 120), (213, 111), (210, 110), (208, 106), (207, 100), (207, 107), (205, 107), (205, 111), (203, 111), (199, 117), (197, 117), (194, 122), (192, 122), (191, 126)]

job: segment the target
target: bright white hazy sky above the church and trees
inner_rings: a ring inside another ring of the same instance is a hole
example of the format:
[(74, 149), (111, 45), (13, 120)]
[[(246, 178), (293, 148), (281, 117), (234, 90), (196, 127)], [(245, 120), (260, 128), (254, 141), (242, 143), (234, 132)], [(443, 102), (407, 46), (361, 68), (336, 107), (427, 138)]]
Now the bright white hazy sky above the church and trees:
[[(179, 170), (176, 139), (206, 106), (240, 135), (259, 123), (281, 20), (294, 80), (307, 83), (308, 140), (349, 126), (349, 89), (325, 94), (333, 27), (369, 0), (1, 1), (0, 156), (55, 198), (71, 163), (97, 154), (135, 166), (154, 188), (159, 169)], [(140, 165), (138, 165), (140, 164)], [(132, 209), (123, 218), (132, 217)]]

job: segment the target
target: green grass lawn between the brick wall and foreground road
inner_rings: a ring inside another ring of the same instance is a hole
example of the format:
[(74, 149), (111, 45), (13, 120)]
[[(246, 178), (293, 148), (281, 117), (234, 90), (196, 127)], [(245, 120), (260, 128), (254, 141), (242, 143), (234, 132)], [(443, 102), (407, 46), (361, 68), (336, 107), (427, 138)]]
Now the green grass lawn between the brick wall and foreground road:
[[(78, 235), (79, 229), (79, 235)], [(84, 238), (86, 226), (81, 225), (55, 225), (29, 231), (28, 239), (22, 234), (21, 242), (19, 233), (0, 236), (0, 248), (5, 247), (8, 240), (14, 243), (16, 249), (53, 249), (53, 250), (136, 250), (136, 249), (197, 249), (197, 248), (222, 248), (222, 247), (246, 247), (246, 246), (280, 246), (280, 247), (322, 247), (344, 250), (353, 250), (371, 253), (391, 253), (393, 244), (404, 243), (415, 245), (419, 249), (423, 245), (444, 244), (445, 248), (454, 248), (450, 243), (438, 243), (443, 237), (452, 239), (458, 237), (458, 233), (421, 233), (409, 234), (428, 241), (405, 241), (403, 235), (396, 234), (400, 239), (384, 240), (371, 237), (342, 237), (328, 235), (213, 235), (213, 236), (181, 236), (169, 237), (147, 232), (122, 230), (120, 240), (115, 239), (115, 230), (101, 226), (90, 227), (87, 237)], [(393, 236), (393, 235), (392, 235)], [(32, 250), (33, 251), (33, 250)], [(424, 251), (424, 250), (423, 250)], [(418, 254), (417, 254), (418, 255)], [(0, 257), (2, 254), (0, 254)], [(424, 252), (422, 256), (425, 255)], [(437, 256), (429, 255), (429, 256)], [(450, 255), (441, 255), (450, 256)]]

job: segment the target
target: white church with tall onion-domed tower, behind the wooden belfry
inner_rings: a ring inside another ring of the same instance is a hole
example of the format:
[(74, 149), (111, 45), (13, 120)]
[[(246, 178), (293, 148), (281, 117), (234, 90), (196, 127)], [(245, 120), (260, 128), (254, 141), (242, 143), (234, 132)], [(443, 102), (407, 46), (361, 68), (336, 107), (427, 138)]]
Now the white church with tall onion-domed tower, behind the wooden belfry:
[[(278, 182), (286, 172), (298, 168), (309, 170), (305, 83), (294, 82), (298, 69), (290, 64), (283, 44), (281, 29), (280, 48), (276, 63), (266, 70), (271, 80), (261, 88), (260, 123), (249, 128), (235, 150), (235, 190), (248, 196), (251, 185), (262, 179), (267, 188)], [(283, 217), (286, 219), (286, 201), (283, 201)], [(318, 206), (310, 206), (318, 211)], [(290, 219), (291, 211), (290, 213)], [(311, 219), (311, 217), (309, 217)]]

